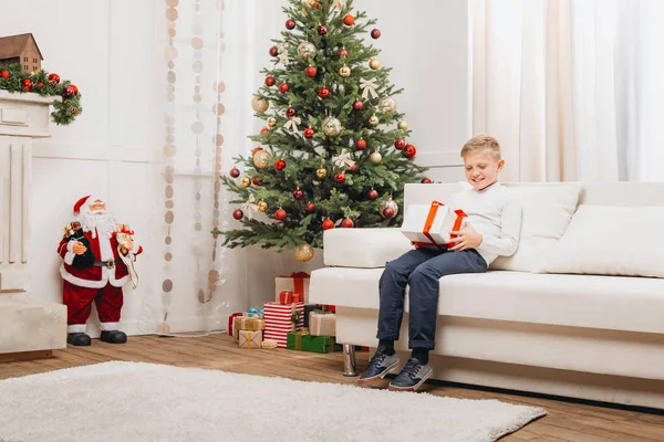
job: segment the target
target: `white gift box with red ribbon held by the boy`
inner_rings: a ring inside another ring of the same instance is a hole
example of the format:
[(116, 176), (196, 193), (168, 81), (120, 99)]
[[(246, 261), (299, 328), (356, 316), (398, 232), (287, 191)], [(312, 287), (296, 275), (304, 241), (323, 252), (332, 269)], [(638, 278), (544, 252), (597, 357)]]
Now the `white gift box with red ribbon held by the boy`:
[(452, 210), (438, 201), (426, 204), (411, 204), (404, 215), (401, 232), (418, 246), (445, 246), (456, 235), (449, 232), (460, 230), (466, 213)]

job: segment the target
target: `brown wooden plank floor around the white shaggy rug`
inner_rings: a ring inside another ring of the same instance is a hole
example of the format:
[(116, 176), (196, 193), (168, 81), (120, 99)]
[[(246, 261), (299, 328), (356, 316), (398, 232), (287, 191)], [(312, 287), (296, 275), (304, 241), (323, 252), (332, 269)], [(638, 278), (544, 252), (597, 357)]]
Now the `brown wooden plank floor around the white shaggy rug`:
[[(201, 367), (321, 382), (354, 383), (356, 379), (342, 376), (340, 352), (318, 355), (291, 350), (242, 350), (227, 335), (175, 338), (141, 336), (129, 337), (125, 345), (110, 345), (94, 339), (91, 347), (54, 351), (54, 358), (51, 359), (2, 362), (0, 379), (108, 360)], [(359, 352), (357, 369), (364, 369), (366, 362), (367, 352)], [(498, 399), (547, 409), (547, 417), (502, 441), (664, 441), (664, 415), (457, 387), (427, 385), (423, 391), (464, 399)]]

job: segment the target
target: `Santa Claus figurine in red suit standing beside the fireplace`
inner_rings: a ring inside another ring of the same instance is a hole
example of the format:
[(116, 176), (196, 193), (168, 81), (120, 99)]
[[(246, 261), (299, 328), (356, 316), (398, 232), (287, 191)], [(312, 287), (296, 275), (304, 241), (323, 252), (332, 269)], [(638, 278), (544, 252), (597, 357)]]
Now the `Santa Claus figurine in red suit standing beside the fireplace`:
[(83, 197), (74, 204), (74, 222), (64, 228), (58, 253), (64, 260), (60, 274), (64, 278), (63, 303), (68, 314), (66, 341), (89, 346), (85, 334), (94, 301), (102, 328), (101, 339), (124, 344), (127, 335), (120, 332), (123, 286), (138, 277), (134, 272), (136, 255), (143, 248), (134, 242), (128, 225), (117, 224), (96, 197)]

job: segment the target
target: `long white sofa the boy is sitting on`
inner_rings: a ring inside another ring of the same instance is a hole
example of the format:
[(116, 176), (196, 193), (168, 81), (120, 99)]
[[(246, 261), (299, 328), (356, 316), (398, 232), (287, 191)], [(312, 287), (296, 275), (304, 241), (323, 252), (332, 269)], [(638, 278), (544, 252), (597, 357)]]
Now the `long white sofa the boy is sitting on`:
[[(610, 229), (608, 224), (615, 224), (614, 219), (582, 232), (582, 240), (567, 238), (580, 232), (579, 225), (571, 225), (581, 204), (615, 207), (626, 219), (644, 207), (660, 213), (664, 183), (505, 186), (523, 200), (519, 250), (511, 259), (497, 260), (486, 274), (440, 280), (436, 348), (430, 358), (434, 378), (664, 409), (664, 278), (541, 273), (547, 256), (550, 267), (575, 266), (577, 273), (611, 266), (625, 256), (629, 262), (608, 272), (634, 272), (632, 264), (664, 271), (664, 260), (646, 256), (664, 253), (643, 242), (652, 241), (647, 222), (632, 220), (621, 238), (598, 236)], [(405, 210), (434, 199), (445, 202), (457, 190), (458, 183), (407, 185)], [(570, 199), (574, 192), (578, 197)], [(662, 225), (657, 235), (661, 244)], [(606, 246), (593, 244), (598, 238)], [(570, 244), (579, 249), (570, 253)], [(643, 251), (634, 249), (644, 244)], [(609, 256), (615, 246), (621, 252)], [(351, 345), (375, 347), (377, 343), (377, 286), (385, 262), (409, 249), (398, 229), (325, 232), (326, 267), (311, 274), (310, 302), (336, 305), (336, 339), (347, 345), (346, 371), (354, 364)], [(558, 260), (550, 260), (554, 250)], [(560, 253), (567, 255), (561, 259)], [(407, 350), (408, 299), (405, 305), (400, 351)], [(401, 355), (403, 364), (407, 354)]]

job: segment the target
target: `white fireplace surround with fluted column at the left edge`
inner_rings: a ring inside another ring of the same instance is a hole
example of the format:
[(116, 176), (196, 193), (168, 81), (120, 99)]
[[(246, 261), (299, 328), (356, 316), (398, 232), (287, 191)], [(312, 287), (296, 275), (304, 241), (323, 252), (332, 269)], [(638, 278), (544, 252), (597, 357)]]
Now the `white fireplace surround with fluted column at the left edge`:
[(32, 141), (50, 136), (52, 102), (0, 91), (0, 360), (66, 347), (66, 307), (34, 301), (28, 271)]

